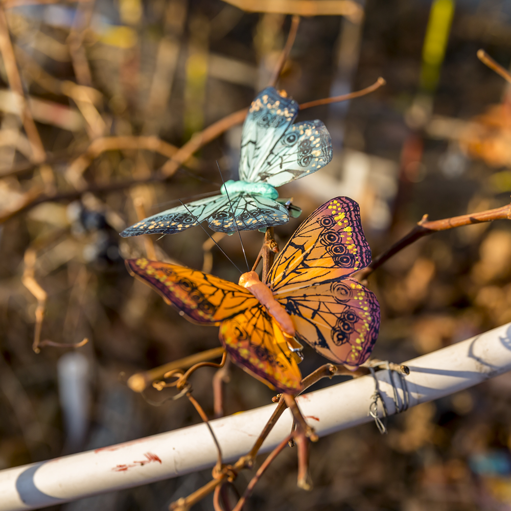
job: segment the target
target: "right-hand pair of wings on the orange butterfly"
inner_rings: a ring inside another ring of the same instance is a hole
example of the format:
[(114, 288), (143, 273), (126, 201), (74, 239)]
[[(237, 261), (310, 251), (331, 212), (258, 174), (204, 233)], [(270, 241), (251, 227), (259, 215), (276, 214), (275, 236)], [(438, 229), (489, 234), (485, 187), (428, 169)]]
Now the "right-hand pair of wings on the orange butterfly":
[(370, 261), (358, 204), (336, 197), (298, 227), (270, 268), (268, 286), (297, 337), (334, 362), (360, 365), (378, 337), (378, 300), (349, 278)]

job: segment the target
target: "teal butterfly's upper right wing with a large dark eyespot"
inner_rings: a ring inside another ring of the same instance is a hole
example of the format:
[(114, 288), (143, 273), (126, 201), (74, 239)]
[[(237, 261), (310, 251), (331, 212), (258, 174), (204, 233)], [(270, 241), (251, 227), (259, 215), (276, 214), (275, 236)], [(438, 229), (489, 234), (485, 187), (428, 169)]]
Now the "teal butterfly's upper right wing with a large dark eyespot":
[(307, 176), (332, 159), (332, 140), (321, 121), (306, 121), (290, 126), (271, 148), (255, 181), (273, 187)]

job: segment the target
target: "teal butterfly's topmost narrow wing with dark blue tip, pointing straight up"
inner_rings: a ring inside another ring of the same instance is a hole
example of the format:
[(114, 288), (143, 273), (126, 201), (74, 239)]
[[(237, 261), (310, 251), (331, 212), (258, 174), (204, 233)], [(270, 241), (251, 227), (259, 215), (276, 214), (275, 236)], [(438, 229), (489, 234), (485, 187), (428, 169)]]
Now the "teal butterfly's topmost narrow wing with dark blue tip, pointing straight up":
[(241, 135), (240, 179), (255, 182), (261, 165), (298, 113), (298, 103), (266, 87), (252, 101)]

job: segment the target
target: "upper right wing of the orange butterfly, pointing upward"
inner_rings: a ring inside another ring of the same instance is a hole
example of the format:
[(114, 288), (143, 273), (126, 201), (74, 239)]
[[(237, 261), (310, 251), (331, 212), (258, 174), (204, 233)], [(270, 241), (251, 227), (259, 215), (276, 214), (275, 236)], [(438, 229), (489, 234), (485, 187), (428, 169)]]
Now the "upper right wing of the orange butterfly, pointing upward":
[(358, 204), (336, 197), (298, 227), (275, 258), (267, 282), (278, 299), (288, 290), (345, 278), (370, 261)]

